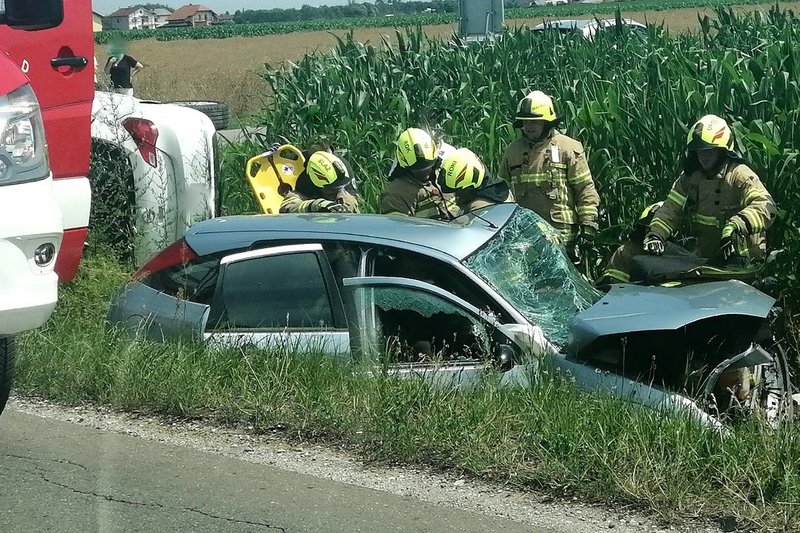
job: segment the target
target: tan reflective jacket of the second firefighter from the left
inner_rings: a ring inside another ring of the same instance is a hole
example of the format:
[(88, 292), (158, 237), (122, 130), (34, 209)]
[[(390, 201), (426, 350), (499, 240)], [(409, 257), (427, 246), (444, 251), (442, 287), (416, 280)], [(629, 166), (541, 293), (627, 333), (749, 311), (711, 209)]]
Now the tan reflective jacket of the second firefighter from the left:
[(458, 215), (458, 207), (452, 195), (442, 194), (430, 181), (420, 183), (406, 176), (397, 176), (386, 185), (381, 198), (381, 213), (451, 220)]

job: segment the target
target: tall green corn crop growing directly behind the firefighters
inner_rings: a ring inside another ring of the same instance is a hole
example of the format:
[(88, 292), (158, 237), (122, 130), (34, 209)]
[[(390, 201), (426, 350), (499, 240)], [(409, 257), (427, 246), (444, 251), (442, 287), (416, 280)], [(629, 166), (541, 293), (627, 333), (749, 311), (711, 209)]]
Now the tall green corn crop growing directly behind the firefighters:
[(780, 208), (770, 234), (785, 249), (773, 266), (796, 287), (800, 253), (800, 18), (772, 8), (719, 9), (694, 34), (651, 27), (593, 41), (517, 30), (492, 42), (430, 40), (398, 32), (381, 46), (346, 37), (331, 54), (269, 70), (268, 130), (298, 142), (329, 138), (353, 163), (374, 209), (404, 128), (440, 131), (496, 169), (517, 132), (511, 114), (534, 88), (554, 96), (561, 129), (580, 139), (603, 199), (611, 244), (641, 210), (664, 199), (679, 173), (689, 126), (706, 113), (732, 123), (743, 156)]

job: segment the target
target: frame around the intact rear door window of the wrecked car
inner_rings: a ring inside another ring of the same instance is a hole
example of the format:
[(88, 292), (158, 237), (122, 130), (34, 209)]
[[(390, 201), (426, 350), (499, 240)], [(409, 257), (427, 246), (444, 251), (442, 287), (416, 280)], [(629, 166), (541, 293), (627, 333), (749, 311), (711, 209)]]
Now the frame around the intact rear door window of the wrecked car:
[[(325, 290), (328, 298), (328, 303), (331, 306), (331, 317), (333, 323), (324, 328), (316, 327), (259, 327), (259, 328), (217, 328), (216, 323), (222, 318), (225, 307), (222, 300), (223, 285), (225, 283), (225, 275), (231, 264), (236, 264), (242, 261), (260, 259), (264, 257), (278, 257), (284, 255), (297, 255), (297, 254), (314, 254), (317, 258), (322, 281), (325, 285)], [(335, 332), (346, 331), (347, 317), (344, 312), (344, 305), (342, 303), (341, 294), (336, 285), (336, 280), (331, 269), (330, 261), (321, 244), (319, 243), (303, 243), (303, 244), (288, 244), (281, 246), (270, 246), (257, 248), (246, 251), (238, 251), (233, 254), (225, 255), (220, 259), (219, 272), (217, 275), (217, 284), (214, 289), (214, 295), (209, 302), (211, 307), (210, 316), (206, 325), (205, 332), (208, 334), (221, 334), (221, 333), (275, 333), (275, 332)]]

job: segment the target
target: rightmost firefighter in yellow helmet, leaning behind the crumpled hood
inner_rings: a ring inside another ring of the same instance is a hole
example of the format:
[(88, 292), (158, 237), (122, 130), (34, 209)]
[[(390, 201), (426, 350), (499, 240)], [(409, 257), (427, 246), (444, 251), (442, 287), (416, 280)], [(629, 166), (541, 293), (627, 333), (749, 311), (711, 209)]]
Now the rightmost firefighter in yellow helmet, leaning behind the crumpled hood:
[(774, 217), (772, 196), (734, 152), (731, 128), (706, 115), (689, 130), (683, 172), (653, 217), (644, 248), (661, 255), (664, 241), (682, 230), (694, 237), (694, 252), (712, 262), (761, 259)]

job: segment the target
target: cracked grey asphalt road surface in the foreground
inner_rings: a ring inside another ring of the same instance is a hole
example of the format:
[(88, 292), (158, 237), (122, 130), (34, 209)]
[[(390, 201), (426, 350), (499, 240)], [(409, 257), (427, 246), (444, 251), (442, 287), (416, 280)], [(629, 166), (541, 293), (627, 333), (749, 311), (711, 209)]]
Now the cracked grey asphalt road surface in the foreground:
[(551, 531), (14, 410), (0, 479), (3, 533)]

